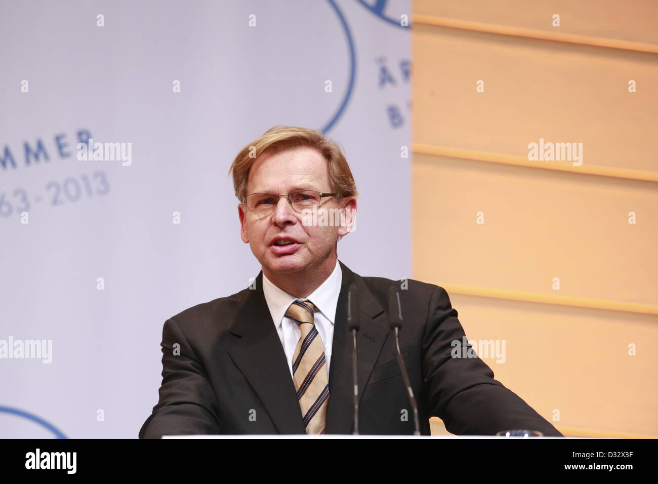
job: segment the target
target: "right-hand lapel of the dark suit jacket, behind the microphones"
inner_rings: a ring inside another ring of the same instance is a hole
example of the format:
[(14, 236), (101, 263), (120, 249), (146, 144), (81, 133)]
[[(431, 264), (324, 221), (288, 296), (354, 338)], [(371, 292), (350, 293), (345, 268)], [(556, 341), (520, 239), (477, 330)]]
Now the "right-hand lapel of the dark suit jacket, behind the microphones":
[(347, 329), (347, 292), (350, 284), (354, 283), (357, 288), (357, 300), (361, 309), (361, 329), (357, 333), (359, 392), (363, 390), (372, 373), (389, 328), (388, 323), (383, 320), (384, 309), (372, 296), (363, 278), (350, 271), (342, 262), (339, 263), (342, 269), (342, 283), (334, 323), (326, 433), (349, 434), (352, 431), (354, 412), (351, 363), (353, 340)]

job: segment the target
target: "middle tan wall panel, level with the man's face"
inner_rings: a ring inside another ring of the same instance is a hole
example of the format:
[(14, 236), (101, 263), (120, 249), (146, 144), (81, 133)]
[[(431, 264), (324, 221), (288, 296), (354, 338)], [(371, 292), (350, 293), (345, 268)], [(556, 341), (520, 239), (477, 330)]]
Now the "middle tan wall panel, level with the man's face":
[[(415, 155), (423, 281), (658, 305), (656, 183)], [(628, 213), (636, 213), (636, 224)], [(484, 214), (478, 224), (476, 214)], [(560, 289), (552, 288), (559, 277)]]

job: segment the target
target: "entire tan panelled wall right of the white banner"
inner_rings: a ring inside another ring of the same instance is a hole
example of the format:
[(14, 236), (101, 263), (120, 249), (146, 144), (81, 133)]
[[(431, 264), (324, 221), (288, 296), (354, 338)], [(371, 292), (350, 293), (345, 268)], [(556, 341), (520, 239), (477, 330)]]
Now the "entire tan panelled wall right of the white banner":
[[(557, 427), (658, 436), (658, 182), (428, 154), (527, 159), (540, 138), (582, 142), (584, 165), (655, 180), (658, 2), (413, 3), (415, 15), (509, 32), (554, 33), (553, 13), (561, 34), (655, 45), (641, 52), (414, 24), (413, 277), (448, 289), (469, 339), (506, 341), (504, 364), (485, 361), (544, 417), (559, 409)], [(608, 309), (578, 307), (588, 304)], [(445, 433), (440, 421), (433, 431)]]

